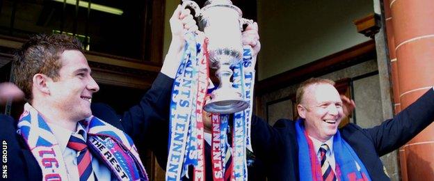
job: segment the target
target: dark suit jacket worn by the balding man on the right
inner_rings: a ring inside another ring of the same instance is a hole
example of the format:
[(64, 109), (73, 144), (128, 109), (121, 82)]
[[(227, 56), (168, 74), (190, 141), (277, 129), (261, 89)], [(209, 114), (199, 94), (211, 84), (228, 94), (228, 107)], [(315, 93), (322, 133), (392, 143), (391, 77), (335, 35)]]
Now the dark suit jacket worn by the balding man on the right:
[[(348, 124), (341, 137), (351, 145), (372, 180), (389, 180), (380, 157), (398, 149), (430, 125), (434, 119), (434, 91), (431, 88), (419, 100), (381, 125), (363, 129)], [(299, 180), (298, 143), (295, 121), (278, 120), (273, 127), (259, 118), (252, 119), (252, 146), (264, 161), (269, 180)]]

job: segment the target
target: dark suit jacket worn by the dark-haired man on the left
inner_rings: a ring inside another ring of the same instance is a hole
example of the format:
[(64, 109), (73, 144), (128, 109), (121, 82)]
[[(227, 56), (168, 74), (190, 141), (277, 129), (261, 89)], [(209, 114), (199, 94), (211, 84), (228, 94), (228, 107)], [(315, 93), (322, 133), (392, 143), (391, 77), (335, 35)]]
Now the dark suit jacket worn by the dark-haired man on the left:
[[(158, 162), (166, 168), (168, 116), (173, 79), (159, 74), (140, 103), (122, 116), (106, 104), (93, 104), (93, 115), (118, 127), (134, 139), (136, 145), (146, 145), (154, 151)], [(10, 180), (42, 180), (42, 171), (29, 147), (16, 134), (17, 122), (0, 115), (0, 141), (7, 143), (7, 171)], [(152, 135), (152, 136), (151, 136)], [(143, 144), (145, 143), (145, 144)], [(140, 152), (140, 147), (138, 148)]]

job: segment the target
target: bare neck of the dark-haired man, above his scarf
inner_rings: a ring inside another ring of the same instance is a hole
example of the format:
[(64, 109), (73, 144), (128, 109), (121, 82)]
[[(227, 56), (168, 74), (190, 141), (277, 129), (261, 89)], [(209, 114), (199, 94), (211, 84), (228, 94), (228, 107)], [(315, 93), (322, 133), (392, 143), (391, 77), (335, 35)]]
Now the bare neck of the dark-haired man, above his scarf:
[(77, 131), (77, 120), (67, 118), (64, 116), (63, 111), (53, 109), (45, 104), (38, 104), (38, 102), (32, 102), (32, 107), (40, 113), (45, 122), (58, 125), (72, 132)]

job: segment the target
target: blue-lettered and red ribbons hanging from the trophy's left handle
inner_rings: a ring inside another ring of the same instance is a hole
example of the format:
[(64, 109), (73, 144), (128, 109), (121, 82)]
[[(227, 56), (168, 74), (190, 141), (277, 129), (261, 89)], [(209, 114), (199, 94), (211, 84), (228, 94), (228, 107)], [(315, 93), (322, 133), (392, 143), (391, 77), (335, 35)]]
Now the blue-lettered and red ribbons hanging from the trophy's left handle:
[(172, 87), (166, 180), (181, 180), (188, 164), (195, 166), (195, 180), (204, 178), (202, 106), (209, 77), (202, 50), (204, 40), (203, 34), (186, 34), (182, 62)]

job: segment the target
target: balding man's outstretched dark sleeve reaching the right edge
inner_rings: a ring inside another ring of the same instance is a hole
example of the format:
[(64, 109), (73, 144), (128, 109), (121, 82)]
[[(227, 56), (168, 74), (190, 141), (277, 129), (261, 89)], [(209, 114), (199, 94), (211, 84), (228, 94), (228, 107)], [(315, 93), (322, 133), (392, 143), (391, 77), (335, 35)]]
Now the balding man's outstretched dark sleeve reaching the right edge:
[(395, 118), (385, 120), (381, 125), (365, 130), (371, 137), (378, 155), (382, 156), (410, 141), (433, 123), (433, 120), (434, 91), (431, 88)]

